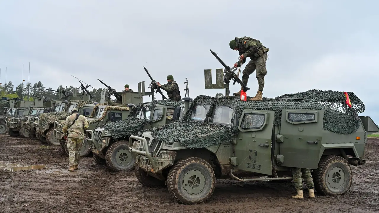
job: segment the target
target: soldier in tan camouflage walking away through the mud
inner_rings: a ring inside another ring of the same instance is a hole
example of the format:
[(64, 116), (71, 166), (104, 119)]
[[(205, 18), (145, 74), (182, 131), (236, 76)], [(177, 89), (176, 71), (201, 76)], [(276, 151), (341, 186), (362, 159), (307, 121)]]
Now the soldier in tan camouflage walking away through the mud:
[(68, 138), (67, 149), (69, 150), (69, 171), (77, 170), (79, 164), (80, 150), (83, 146), (85, 131), (88, 128), (88, 120), (78, 113), (78, 109), (71, 110), (71, 115), (66, 118), (62, 128), (64, 139)]

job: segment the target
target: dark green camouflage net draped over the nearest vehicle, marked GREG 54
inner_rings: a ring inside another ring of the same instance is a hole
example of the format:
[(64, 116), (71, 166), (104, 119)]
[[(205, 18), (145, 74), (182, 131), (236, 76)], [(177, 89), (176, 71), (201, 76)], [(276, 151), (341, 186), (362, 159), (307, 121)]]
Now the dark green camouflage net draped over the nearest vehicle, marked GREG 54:
[[(275, 112), (274, 125), (280, 126), (283, 109), (323, 110), (323, 128), (330, 132), (349, 134), (357, 130), (360, 118), (357, 113), (365, 110), (363, 102), (352, 92), (348, 92), (351, 108), (345, 104), (346, 97), (343, 92), (321, 91), (312, 89), (296, 94), (285, 94), (276, 98), (264, 97), (262, 101), (241, 101), (239, 97), (229, 96), (215, 98), (210, 96), (197, 96), (184, 114), (181, 122), (146, 129), (139, 132), (151, 131), (152, 136), (165, 143), (180, 142), (188, 148), (208, 147), (225, 141), (231, 141), (235, 136), (230, 127), (211, 124), (215, 107), (229, 105), (235, 112), (242, 114), (244, 109), (272, 110)], [(204, 122), (191, 121), (196, 103), (210, 104)], [(240, 117), (241, 119), (241, 117)]]

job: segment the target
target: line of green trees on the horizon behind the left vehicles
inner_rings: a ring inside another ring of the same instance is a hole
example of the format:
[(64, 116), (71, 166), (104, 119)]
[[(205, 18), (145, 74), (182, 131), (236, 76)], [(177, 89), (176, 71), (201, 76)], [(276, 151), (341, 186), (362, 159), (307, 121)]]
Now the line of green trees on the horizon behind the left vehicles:
[[(50, 90), (46, 90), (50, 89)], [(49, 100), (59, 100), (59, 92), (55, 91), (62, 91), (63, 89), (66, 89), (66, 86), (59, 85), (56, 89), (53, 89), (51, 87), (46, 88), (41, 81), (38, 81), (36, 83), (20, 83), (18, 86), (16, 86), (16, 89), (14, 89), (14, 85), (12, 81), (9, 81), (5, 85), (0, 85), (0, 95), (1, 97), (7, 97), (8, 99), (11, 98), (20, 98), (23, 100), (31, 100), (33, 101), (36, 99), (35, 96), (41, 97), (47, 97)], [(55, 91), (51, 91), (55, 90)], [(103, 88), (99, 89), (92, 89), (87, 88), (87, 90), (91, 93), (91, 95), (94, 97), (94, 101), (100, 101), (101, 91)], [(67, 86), (66, 92), (73, 92), (74, 86)], [(81, 91), (80, 87), (77, 89), (77, 92), (84, 92)], [(35, 96), (33, 96), (35, 95)]]

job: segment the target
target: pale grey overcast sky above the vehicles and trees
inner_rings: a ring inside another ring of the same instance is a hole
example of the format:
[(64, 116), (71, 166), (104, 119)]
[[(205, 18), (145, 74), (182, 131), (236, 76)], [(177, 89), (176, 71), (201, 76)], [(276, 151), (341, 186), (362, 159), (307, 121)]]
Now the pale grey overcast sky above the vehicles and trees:
[[(1, 83), (27, 79), (46, 88), (95, 88), (97, 78), (121, 91), (150, 82), (145, 66), (163, 83), (173, 75), (184, 97), (214, 96), (204, 89), (204, 69), (223, 68), (210, 49), (232, 66), (234, 37), (249, 36), (269, 48), (263, 96), (309, 89), (354, 92), (362, 114), (379, 124), (377, 1), (0, 1)], [(249, 61), (249, 59), (248, 59)], [(243, 65), (244, 68), (245, 64)], [(254, 96), (255, 72), (247, 95)], [(240, 87), (231, 85), (231, 93)], [(157, 99), (161, 97), (157, 96)], [(144, 101), (150, 101), (144, 97)]]

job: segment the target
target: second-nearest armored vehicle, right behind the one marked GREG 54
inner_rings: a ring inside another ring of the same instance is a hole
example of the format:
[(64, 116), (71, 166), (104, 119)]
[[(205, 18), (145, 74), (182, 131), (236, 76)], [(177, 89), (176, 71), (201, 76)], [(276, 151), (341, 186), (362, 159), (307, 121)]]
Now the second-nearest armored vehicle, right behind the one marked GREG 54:
[[(142, 85), (142, 86), (141, 86)], [(188, 87), (185, 89), (188, 90)], [(124, 121), (112, 122), (93, 130), (86, 131), (86, 139), (92, 144), (92, 154), (98, 164), (106, 164), (111, 171), (132, 169), (134, 160), (128, 150), (130, 135), (139, 130), (175, 122), (174, 113), (184, 113), (184, 102), (154, 100), (154, 92), (144, 91), (144, 81), (138, 83), (140, 96), (151, 95), (152, 102), (139, 103)], [(174, 112), (174, 108), (178, 108)]]

